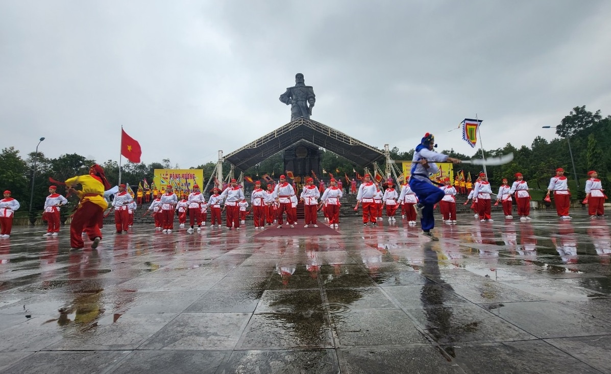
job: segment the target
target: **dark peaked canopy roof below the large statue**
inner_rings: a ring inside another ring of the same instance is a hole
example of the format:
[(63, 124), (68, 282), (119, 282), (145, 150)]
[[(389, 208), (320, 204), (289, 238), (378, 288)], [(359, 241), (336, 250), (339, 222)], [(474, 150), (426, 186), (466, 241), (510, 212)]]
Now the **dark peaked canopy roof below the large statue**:
[(245, 171), (298, 142), (309, 142), (365, 167), (384, 158), (381, 150), (309, 118), (300, 117), (225, 156)]

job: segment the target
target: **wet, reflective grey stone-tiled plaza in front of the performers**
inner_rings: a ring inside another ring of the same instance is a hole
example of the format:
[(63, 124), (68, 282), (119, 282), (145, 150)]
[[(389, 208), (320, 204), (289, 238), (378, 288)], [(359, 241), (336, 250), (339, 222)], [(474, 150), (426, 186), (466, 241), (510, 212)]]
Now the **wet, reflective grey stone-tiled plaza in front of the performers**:
[(571, 213), (462, 215), (440, 241), (356, 216), (295, 237), (106, 225), (80, 252), (67, 227), (13, 227), (0, 373), (611, 373), (610, 221)]

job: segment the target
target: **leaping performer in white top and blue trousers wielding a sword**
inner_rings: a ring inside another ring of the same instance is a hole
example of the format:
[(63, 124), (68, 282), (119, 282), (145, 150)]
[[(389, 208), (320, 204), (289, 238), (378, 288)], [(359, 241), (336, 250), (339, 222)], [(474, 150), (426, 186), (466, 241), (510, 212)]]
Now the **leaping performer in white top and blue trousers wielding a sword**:
[(433, 185), (429, 175), (437, 173), (439, 168), (435, 164), (450, 161), (458, 164), (461, 161), (456, 158), (450, 158), (447, 155), (442, 155), (433, 150), (437, 147), (433, 134), (426, 133), (419, 145), (417, 145), (414, 158), (412, 159), (411, 177), (409, 186), (418, 197), (418, 204), (414, 205), (417, 215), (420, 218), (422, 225), (422, 235), (431, 240), (439, 240), (433, 235), (431, 229), (435, 227), (435, 219), (433, 217), (433, 207), (444, 197), (444, 191), (441, 191), (437, 186)]

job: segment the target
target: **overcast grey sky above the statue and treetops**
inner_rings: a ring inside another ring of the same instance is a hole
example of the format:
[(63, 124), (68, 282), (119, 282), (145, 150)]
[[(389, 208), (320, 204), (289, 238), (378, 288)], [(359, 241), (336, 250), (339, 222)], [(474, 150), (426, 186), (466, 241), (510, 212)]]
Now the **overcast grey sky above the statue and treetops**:
[(290, 120), (295, 73), (313, 120), (407, 151), (426, 131), (474, 153), (554, 138), (574, 106), (611, 114), (611, 1), (0, 0), (0, 147), (118, 160), (216, 161)]

